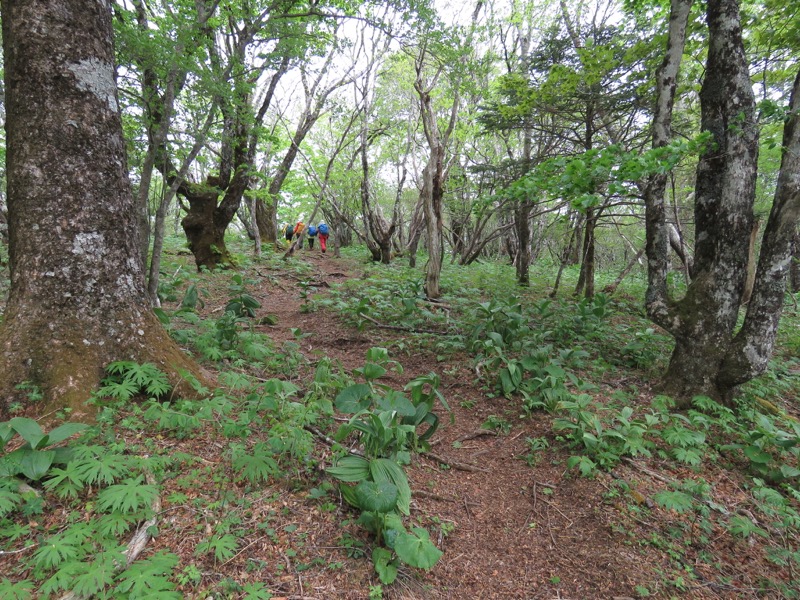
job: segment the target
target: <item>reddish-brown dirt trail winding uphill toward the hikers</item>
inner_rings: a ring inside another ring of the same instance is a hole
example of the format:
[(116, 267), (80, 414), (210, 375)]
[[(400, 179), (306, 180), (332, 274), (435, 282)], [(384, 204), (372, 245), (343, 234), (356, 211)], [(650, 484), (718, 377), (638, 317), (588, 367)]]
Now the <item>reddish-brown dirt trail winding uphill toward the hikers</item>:
[[(304, 250), (290, 260), (313, 265), (316, 282), (360, 276), (357, 265), (318, 251)], [(352, 369), (363, 365), (368, 348), (399, 337), (380, 328), (343, 327), (325, 312), (301, 312), (300, 287), (284, 284), (264, 299), (278, 317), (270, 328), (276, 342), (294, 339), (290, 329), (298, 327), (311, 334), (302, 340), (307, 355), (321, 351)], [(431, 572), (404, 578), (387, 597), (629, 597), (634, 585), (654, 578), (653, 565), (644, 565), (623, 536), (612, 533), (616, 511), (602, 498), (608, 476), (563, 478), (566, 456), (552, 450), (534, 467), (523, 460), (527, 438), (550, 436), (549, 418), (520, 420), (508, 400), (487, 398), (466, 361), (452, 374), (453, 365), (437, 363), (433, 353), (392, 358), (405, 369), (391, 382), (398, 387), (431, 371), (442, 377), (455, 422), (443, 418), (431, 453), (415, 459), (410, 470), (412, 518), (428, 526), (445, 554)], [(513, 427), (500, 435), (481, 429), (490, 415)], [(341, 598), (362, 597), (354, 590), (340, 592)]]

